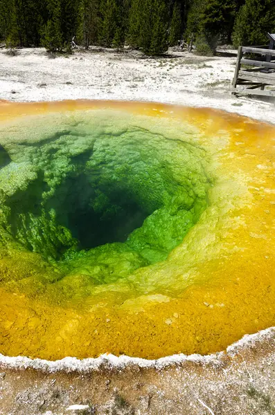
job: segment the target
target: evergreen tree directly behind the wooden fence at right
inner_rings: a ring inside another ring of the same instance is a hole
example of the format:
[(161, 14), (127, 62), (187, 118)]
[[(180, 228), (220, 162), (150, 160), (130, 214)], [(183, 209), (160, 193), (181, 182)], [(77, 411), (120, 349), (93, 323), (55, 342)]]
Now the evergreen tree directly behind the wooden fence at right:
[(267, 43), (267, 32), (275, 30), (275, 3), (273, 0), (247, 0), (240, 8), (233, 30), (233, 44), (260, 45)]

